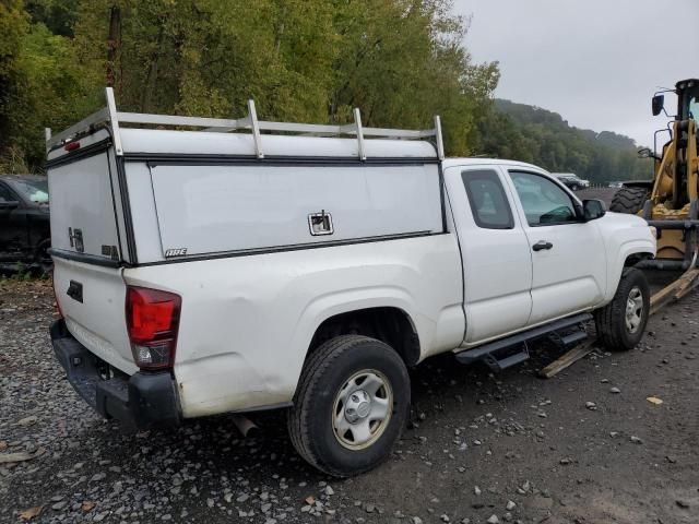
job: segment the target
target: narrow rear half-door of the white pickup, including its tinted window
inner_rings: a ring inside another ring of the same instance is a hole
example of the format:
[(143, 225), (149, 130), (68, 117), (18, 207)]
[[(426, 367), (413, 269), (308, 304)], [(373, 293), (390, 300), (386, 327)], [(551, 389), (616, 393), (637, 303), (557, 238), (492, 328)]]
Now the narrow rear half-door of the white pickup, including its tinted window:
[(461, 247), (467, 344), (523, 327), (532, 309), (529, 241), (503, 177), (494, 165), (445, 172)]

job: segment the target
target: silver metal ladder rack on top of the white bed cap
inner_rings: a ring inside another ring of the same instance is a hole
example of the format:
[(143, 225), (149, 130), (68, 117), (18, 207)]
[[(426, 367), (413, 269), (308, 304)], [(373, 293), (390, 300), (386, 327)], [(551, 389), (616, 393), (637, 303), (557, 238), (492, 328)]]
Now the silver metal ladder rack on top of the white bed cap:
[(345, 126), (328, 126), (315, 123), (293, 123), (293, 122), (272, 122), (258, 120), (254, 102), (248, 100), (248, 116), (241, 119), (225, 118), (208, 118), (208, 117), (183, 117), (168, 115), (149, 115), (139, 112), (125, 112), (117, 110), (114, 96), (114, 90), (107, 87), (105, 90), (107, 107), (92, 114), (87, 118), (71, 126), (70, 128), (57, 134), (51, 134), (49, 128), (46, 129), (46, 151), (47, 153), (64, 145), (85, 133), (92, 133), (102, 126), (108, 124), (111, 128), (114, 146), (117, 155), (123, 155), (121, 145), (121, 136), (119, 130), (121, 124), (145, 124), (145, 126), (166, 126), (166, 127), (191, 127), (203, 128), (205, 132), (230, 131), (249, 131), (254, 142), (254, 151), (258, 158), (264, 157), (262, 150), (262, 132), (281, 132), (281, 133), (298, 133), (303, 135), (313, 136), (342, 136), (354, 135), (357, 140), (358, 156), (366, 159), (365, 139), (393, 139), (393, 140), (426, 140), (434, 139), (434, 145), (437, 150), (437, 157), (445, 158), (445, 144), (441, 132), (441, 120), (439, 116), (435, 117), (435, 127), (427, 130), (405, 130), (405, 129), (388, 129), (388, 128), (365, 128), (362, 126), (362, 116), (359, 109), (353, 111), (354, 122)]

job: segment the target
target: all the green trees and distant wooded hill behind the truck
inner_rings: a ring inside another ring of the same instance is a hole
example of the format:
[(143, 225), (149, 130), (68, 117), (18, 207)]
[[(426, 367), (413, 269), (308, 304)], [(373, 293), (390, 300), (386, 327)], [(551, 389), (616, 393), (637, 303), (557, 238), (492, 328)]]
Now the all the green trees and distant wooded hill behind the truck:
[(0, 172), (40, 171), (44, 128), (104, 106), (266, 120), (430, 128), (449, 155), (490, 155), (594, 181), (648, 178), (633, 142), (493, 100), (451, 0), (3, 0)]

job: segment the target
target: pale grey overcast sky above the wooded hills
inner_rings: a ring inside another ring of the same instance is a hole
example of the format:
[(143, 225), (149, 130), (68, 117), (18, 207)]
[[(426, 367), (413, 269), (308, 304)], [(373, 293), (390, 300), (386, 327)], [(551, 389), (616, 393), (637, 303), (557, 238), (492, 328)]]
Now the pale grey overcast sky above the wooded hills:
[[(471, 16), (464, 44), (473, 60), (500, 62), (496, 96), (578, 128), (652, 145), (667, 121), (651, 115), (654, 92), (699, 78), (699, 0), (453, 2)], [(668, 114), (675, 105), (666, 95)]]

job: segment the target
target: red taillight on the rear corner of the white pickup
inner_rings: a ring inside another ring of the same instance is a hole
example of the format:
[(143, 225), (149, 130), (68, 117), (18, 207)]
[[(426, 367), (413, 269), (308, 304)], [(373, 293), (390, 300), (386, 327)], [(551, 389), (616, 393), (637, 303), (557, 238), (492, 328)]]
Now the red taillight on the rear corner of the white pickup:
[(181, 298), (174, 293), (127, 288), (127, 327), (139, 368), (173, 367), (180, 307)]

